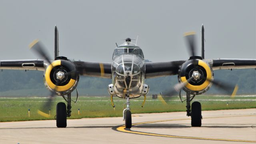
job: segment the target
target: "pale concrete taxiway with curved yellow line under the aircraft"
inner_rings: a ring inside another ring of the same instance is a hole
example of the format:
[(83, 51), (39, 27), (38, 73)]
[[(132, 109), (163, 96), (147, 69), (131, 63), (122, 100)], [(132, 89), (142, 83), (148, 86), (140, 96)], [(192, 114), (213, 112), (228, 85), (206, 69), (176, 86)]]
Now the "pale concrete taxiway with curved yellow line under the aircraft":
[(256, 143), (256, 109), (202, 111), (202, 127), (190, 126), (186, 112), (132, 114), (131, 129), (122, 117), (0, 122), (0, 144), (242, 144)]

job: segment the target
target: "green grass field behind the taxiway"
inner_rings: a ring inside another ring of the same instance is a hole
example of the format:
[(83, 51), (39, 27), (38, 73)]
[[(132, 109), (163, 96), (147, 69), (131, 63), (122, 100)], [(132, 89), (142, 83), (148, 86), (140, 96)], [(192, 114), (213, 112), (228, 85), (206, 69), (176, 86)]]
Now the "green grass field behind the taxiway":
[[(37, 110), (40, 109), (46, 100), (47, 98), (0, 98), (0, 122), (54, 119), (56, 104), (64, 102), (64, 100), (61, 97), (56, 98), (50, 111), (50, 118), (44, 118), (37, 114)], [(229, 96), (196, 96), (193, 101), (201, 102), (202, 110), (256, 108), (256, 96), (236, 96), (234, 99)], [(125, 107), (124, 102), (124, 99), (114, 97), (114, 104), (116, 105), (114, 110), (110, 103), (110, 97), (82, 96), (76, 104), (72, 102), (72, 116), (70, 118), (122, 116), (122, 111)], [(142, 102), (143, 98), (131, 99), (131, 112), (186, 111), (186, 102), (181, 103), (178, 97), (169, 99), (167, 105), (149, 96), (143, 108), (141, 107)], [(80, 115), (78, 115), (78, 108), (80, 109)], [(28, 109), (30, 109), (30, 117), (28, 117)]]

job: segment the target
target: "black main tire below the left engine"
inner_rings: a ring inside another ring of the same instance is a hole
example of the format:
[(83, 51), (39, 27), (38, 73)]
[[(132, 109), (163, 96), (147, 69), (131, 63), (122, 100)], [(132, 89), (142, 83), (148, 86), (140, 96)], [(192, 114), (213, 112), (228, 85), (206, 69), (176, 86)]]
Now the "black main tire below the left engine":
[(67, 126), (67, 109), (64, 102), (59, 102), (56, 107), (56, 125), (58, 128)]

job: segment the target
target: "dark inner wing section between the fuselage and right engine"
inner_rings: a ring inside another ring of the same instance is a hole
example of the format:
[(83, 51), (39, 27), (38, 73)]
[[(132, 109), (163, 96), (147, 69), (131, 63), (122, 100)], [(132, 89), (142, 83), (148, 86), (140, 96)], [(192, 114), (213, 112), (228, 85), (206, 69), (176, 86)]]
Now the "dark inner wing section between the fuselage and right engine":
[(172, 62), (146, 62), (145, 78), (176, 75), (184, 62), (184, 60)]

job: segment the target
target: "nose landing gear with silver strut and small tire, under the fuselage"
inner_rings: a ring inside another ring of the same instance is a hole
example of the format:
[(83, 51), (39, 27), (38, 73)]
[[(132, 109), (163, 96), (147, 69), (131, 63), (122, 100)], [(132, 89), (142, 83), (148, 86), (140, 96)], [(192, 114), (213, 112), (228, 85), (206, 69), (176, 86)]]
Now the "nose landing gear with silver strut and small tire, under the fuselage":
[(129, 94), (126, 94), (126, 108), (123, 111), (123, 119), (125, 120), (125, 127), (131, 128), (132, 127), (132, 114), (130, 109), (130, 97)]

